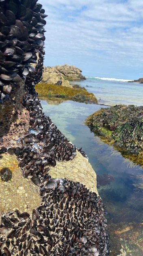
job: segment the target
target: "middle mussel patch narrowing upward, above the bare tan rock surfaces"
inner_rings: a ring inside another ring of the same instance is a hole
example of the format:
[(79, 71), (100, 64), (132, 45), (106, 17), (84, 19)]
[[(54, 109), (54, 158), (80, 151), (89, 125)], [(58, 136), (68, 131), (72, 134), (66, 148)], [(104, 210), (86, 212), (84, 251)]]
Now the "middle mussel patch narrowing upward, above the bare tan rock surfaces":
[(27, 91), (23, 103), (30, 112), (28, 133), (16, 145), (2, 147), (0, 154), (6, 151), (15, 154), (24, 177), (37, 175), (40, 178), (46, 166), (56, 165), (56, 159), (72, 160), (76, 156), (76, 147), (57, 129), (50, 117), (43, 114), (37, 93), (34, 88), (31, 89), (33, 94)]

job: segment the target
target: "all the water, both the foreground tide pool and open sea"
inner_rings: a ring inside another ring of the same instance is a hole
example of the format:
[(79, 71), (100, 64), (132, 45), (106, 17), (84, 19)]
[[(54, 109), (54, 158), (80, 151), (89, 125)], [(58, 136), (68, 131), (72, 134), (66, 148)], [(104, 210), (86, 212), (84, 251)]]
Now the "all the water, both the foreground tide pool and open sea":
[[(84, 86), (89, 92), (93, 92), (98, 100), (105, 105), (134, 104), (139, 106), (142, 102), (143, 89), (141, 84), (127, 83), (126, 81), (105, 81), (104, 79), (89, 77), (78, 84)], [(130, 228), (135, 225), (136, 230), (132, 229), (132, 233), (138, 234), (141, 231), (140, 227), (143, 223), (143, 169), (139, 165), (134, 165), (128, 158), (125, 159), (113, 146), (109, 146), (104, 140), (94, 136), (93, 132), (90, 132), (90, 129), (85, 125), (85, 119), (89, 115), (101, 107), (106, 108), (107, 106), (74, 101), (55, 101), (53, 103), (46, 98), (41, 100), (41, 104), (43, 112), (52, 119), (57, 128), (76, 147), (82, 147), (82, 150), (87, 153), (93, 169), (101, 177), (98, 191), (108, 212), (106, 218), (108, 219), (108, 231), (111, 233), (112, 242), (110, 255), (120, 255), (118, 250), (121, 247), (119, 245), (128, 247), (130, 236), (128, 237), (129, 231), (123, 232), (120, 235), (121, 241), (118, 237), (117, 242), (115, 230), (124, 230), (124, 227)], [(105, 182), (104, 179), (107, 177), (106, 175), (109, 177), (108, 182)], [(124, 255), (142, 256), (142, 249), (136, 245), (138, 241), (134, 235), (133, 248), (130, 254)]]

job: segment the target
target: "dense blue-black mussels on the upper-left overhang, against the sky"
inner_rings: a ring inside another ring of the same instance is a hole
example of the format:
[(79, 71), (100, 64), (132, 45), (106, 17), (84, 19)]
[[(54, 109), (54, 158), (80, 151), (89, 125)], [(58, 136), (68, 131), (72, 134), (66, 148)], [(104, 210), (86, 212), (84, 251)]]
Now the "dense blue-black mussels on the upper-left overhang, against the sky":
[(0, 0), (0, 102), (35, 69), (44, 45), (44, 14), (37, 0)]

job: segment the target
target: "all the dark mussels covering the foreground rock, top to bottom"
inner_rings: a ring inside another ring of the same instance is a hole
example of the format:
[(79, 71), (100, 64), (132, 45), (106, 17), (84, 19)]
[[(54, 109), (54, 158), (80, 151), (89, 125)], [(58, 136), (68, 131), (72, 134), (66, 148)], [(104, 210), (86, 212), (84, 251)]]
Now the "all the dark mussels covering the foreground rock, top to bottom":
[[(56, 160), (72, 160), (76, 147), (44, 115), (34, 89), (42, 76), (45, 17), (37, 0), (0, 0), (0, 102), (24, 78), (23, 106), (30, 114), (28, 133), (17, 144), (2, 147), (0, 155), (15, 154), (24, 177), (39, 186), (41, 195), (32, 217), (18, 210), (2, 215), (0, 256), (106, 256), (101, 198), (79, 182), (48, 175)], [(37, 63), (35, 69), (31, 63)]]

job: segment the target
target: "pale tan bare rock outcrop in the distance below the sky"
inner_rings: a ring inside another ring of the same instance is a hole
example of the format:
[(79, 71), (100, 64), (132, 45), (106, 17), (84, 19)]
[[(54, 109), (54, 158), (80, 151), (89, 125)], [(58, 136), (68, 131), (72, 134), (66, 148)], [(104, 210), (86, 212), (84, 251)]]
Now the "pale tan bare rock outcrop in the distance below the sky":
[(82, 76), (81, 72), (82, 71), (79, 68), (67, 64), (62, 66), (57, 65), (55, 67), (43, 66), (42, 82), (72, 87), (72, 85), (69, 84), (69, 81), (86, 79), (85, 76)]

